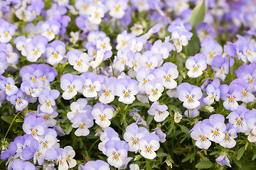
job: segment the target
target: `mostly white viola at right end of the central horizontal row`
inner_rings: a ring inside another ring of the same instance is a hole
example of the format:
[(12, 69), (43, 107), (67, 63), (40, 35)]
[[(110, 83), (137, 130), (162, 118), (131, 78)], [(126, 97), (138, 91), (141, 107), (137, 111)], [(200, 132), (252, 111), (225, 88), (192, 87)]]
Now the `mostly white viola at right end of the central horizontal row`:
[(149, 95), (149, 101), (157, 101), (164, 91), (164, 86), (161, 79), (153, 79), (145, 85), (145, 92)]

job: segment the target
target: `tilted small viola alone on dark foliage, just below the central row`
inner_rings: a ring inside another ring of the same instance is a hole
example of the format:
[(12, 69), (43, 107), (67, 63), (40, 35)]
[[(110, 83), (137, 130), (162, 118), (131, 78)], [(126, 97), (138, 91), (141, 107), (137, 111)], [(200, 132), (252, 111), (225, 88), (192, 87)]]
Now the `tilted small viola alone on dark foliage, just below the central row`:
[(168, 107), (165, 104), (160, 105), (157, 101), (151, 105), (148, 113), (149, 115), (154, 115), (156, 122), (164, 121), (169, 115)]

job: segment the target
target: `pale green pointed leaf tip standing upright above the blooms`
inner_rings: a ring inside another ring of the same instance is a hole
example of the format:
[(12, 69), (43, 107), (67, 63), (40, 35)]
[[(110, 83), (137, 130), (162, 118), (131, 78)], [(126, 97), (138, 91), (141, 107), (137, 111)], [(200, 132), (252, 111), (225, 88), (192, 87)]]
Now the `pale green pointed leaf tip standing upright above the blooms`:
[(198, 23), (203, 22), (205, 15), (206, 3), (205, 1), (201, 1), (195, 8), (193, 8), (191, 18), (189, 18), (189, 23), (191, 23), (193, 28), (196, 28), (196, 26), (198, 26)]

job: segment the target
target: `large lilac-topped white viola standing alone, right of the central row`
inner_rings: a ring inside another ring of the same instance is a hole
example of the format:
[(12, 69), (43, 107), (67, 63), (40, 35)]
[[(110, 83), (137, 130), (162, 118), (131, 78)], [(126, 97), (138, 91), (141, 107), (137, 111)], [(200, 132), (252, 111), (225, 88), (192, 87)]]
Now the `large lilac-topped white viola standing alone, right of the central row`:
[(183, 107), (192, 109), (200, 105), (198, 101), (202, 97), (202, 91), (198, 86), (182, 83), (177, 87), (178, 99), (183, 101)]

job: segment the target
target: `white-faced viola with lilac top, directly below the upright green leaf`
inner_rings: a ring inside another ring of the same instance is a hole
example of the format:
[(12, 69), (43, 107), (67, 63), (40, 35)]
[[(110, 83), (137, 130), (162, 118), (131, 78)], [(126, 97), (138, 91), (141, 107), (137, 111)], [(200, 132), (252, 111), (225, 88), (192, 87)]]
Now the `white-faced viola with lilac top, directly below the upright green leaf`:
[(206, 56), (199, 53), (186, 60), (186, 68), (189, 69), (188, 77), (196, 78), (203, 74), (203, 70), (207, 68)]

